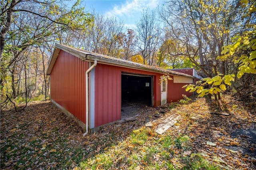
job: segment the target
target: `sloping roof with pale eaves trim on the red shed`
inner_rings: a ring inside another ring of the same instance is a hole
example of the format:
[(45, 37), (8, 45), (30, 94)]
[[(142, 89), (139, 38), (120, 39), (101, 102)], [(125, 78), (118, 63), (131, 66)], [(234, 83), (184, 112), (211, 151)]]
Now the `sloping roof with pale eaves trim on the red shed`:
[(164, 68), (156, 67), (156, 66), (149, 66), (145, 64), (140, 64), (140, 63), (135, 63), (132, 61), (127, 61), (123, 59), (118, 59), (115, 57), (110, 57), (107, 55), (101, 55), (97, 53), (92, 53), (86, 50), (82, 49), (76, 49), (74, 47), (69, 47), (66, 45), (61, 45), (61, 44), (56, 44), (54, 52), (52, 53), (52, 56), (50, 58), (50, 61), (48, 63), (48, 68), (46, 74), (50, 74), (52, 71), (52, 68), (54, 66), (54, 63), (58, 57), (58, 54), (60, 50), (66, 51), (67, 53), (70, 53), (78, 58), (80, 58), (82, 61), (94, 61), (96, 60), (98, 63), (103, 63), (103, 64), (110, 64), (110, 65), (116, 65), (116, 66), (121, 66), (121, 67), (127, 67), (127, 68), (134, 68), (138, 70), (148, 70), (151, 72), (160, 72), (163, 74), (171, 74), (175, 76), (185, 76), (188, 78), (193, 78), (193, 76), (190, 76), (188, 74), (184, 74), (181, 72), (175, 72), (172, 70), (166, 70)]

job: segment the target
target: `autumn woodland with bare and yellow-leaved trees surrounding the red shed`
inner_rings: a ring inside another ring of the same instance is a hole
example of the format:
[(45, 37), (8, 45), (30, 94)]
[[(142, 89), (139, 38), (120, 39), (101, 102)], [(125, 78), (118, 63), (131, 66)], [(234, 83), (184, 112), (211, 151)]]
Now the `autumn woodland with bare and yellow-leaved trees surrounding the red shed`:
[[(196, 68), (208, 82), (187, 90), (201, 96), (217, 99), (226, 85), (236, 92), (255, 85), (255, 1), (170, 0), (145, 8), (134, 30), (71, 2), (0, 2), (1, 109), (48, 98), (55, 43), (167, 69)], [(203, 91), (205, 85), (211, 88)]]

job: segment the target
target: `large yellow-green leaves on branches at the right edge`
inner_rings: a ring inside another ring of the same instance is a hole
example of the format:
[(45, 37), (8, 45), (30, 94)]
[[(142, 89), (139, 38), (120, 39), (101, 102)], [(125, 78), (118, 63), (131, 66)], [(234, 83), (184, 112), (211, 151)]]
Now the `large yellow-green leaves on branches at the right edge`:
[[(256, 74), (256, 26), (254, 27), (254, 31), (247, 31), (243, 36), (234, 37), (234, 43), (222, 49), (221, 54), (225, 54), (224, 57), (218, 58), (224, 60), (228, 57), (235, 57), (234, 64), (238, 64), (237, 78), (241, 78), (244, 73)], [(250, 51), (249, 55), (248, 51)], [(240, 54), (240, 57), (237, 57), (236, 54)], [(218, 94), (221, 91), (225, 91), (227, 85), (232, 85), (231, 82), (234, 81), (234, 77), (234, 74), (227, 74), (223, 77), (217, 75), (212, 78), (202, 78), (199, 86), (189, 85), (187, 88), (189, 88), (190, 92), (196, 91), (199, 94), (198, 97), (203, 97), (207, 94)], [(211, 85), (211, 87), (204, 89), (206, 85)]]

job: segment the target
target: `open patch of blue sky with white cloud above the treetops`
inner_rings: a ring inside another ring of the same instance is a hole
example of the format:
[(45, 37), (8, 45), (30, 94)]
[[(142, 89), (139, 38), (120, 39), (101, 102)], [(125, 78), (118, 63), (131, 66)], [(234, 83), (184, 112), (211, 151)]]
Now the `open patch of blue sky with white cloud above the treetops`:
[(140, 20), (143, 8), (156, 9), (164, 0), (84, 0), (86, 10), (94, 9), (96, 13), (104, 16), (116, 16), (123, 20), (125, 26), (130, 29), (136, 27), (136, 22)]

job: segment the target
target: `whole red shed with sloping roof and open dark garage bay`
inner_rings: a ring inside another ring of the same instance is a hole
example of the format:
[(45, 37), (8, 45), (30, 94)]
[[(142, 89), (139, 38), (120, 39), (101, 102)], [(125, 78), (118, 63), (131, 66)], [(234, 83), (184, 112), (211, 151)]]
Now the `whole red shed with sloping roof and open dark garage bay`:
[[(182, 88), (193, 76), (159, 67), (56, 44), (48, 64), (50, 98), (84, 130), (122, 118), (122, 101), (143, 100), (149, 106), (176, 102), (190, 96)], [(171, 79), (167, 79), (166, 77)]]

